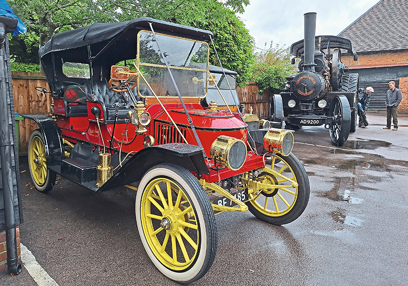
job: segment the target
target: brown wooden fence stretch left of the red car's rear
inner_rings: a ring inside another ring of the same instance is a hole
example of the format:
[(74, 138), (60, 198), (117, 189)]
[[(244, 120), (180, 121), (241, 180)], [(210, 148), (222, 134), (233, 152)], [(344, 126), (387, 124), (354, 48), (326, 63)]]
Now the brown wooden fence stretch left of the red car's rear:
[[(52, 99), (49, 95), (36, 91), (35, 87), (43, 87), (50, 90), (45, 75), (42, 73), (11, 73), (14, 97), (14, 110), (19, 115), (22, 114), (44, 114), (48, 115)], [(31, 133), (38, 126), (32, 120), (17, 121), (19, 125), (19, 151), (20, 154), (26, 154), (28, 150), (28, 141)]]

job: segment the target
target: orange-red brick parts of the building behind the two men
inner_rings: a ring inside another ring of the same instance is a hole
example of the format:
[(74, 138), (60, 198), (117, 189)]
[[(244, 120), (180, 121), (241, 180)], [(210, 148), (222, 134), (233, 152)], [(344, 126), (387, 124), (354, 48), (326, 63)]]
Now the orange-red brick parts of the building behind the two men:
[[(396, 52), (380, 52), (359, 54), (358, 61), (353, 61), (353, 56), (342, 56), (341, 61), (345, 66), (371, 66), (371, 65), (407, 65), (408, 64), (408, 51), (396, 51)], [(403, 100), (401, 101), (398, 111), (408, 114), (408, 78), (400, 77), (399, 89), (403, 94)]]

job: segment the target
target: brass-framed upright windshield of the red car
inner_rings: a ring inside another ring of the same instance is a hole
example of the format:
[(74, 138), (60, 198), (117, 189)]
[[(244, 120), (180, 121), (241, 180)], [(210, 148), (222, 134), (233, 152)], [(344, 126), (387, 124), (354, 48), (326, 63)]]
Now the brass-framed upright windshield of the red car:
[[(140, 31), (138, 35), (138, 68), (158, 96), (175, 96), (169, 71), (158, 45), (169, 65), (183, 97), (203, 98), (206, 93), (208, 45), (205, 42)], [(139, 79), (138, 92), (144, 96), (146, 84)]]

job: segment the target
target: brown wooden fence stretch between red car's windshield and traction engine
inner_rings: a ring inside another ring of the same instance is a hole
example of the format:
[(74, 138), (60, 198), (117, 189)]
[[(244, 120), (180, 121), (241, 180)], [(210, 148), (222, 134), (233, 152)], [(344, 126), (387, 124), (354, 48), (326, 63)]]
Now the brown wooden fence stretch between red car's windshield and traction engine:
[(245, 105), (246, 113), (249, 113), (249, 108), (252, 106), (253, 114), (258, 115), (260, 119), (269, 119), (271, 102), (269, 89), (259, 92), (256, 84), (249, 83), (242, 88), (238, 87), (237, 92), (240, 103)]

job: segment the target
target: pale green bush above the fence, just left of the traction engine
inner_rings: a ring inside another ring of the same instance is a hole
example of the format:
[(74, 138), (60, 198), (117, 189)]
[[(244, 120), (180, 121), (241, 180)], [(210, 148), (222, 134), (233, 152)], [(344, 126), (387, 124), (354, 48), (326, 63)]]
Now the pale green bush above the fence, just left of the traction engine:
[(269, 89), (279, 92), (285, 87), (285, 78), (296, 72), (291, 65), (289, 48), (273, 47), (272, 42), (268, 49), (255, 54), (255, 64), (251, 67), (252, 79), (258, 84), (259, 91)]

